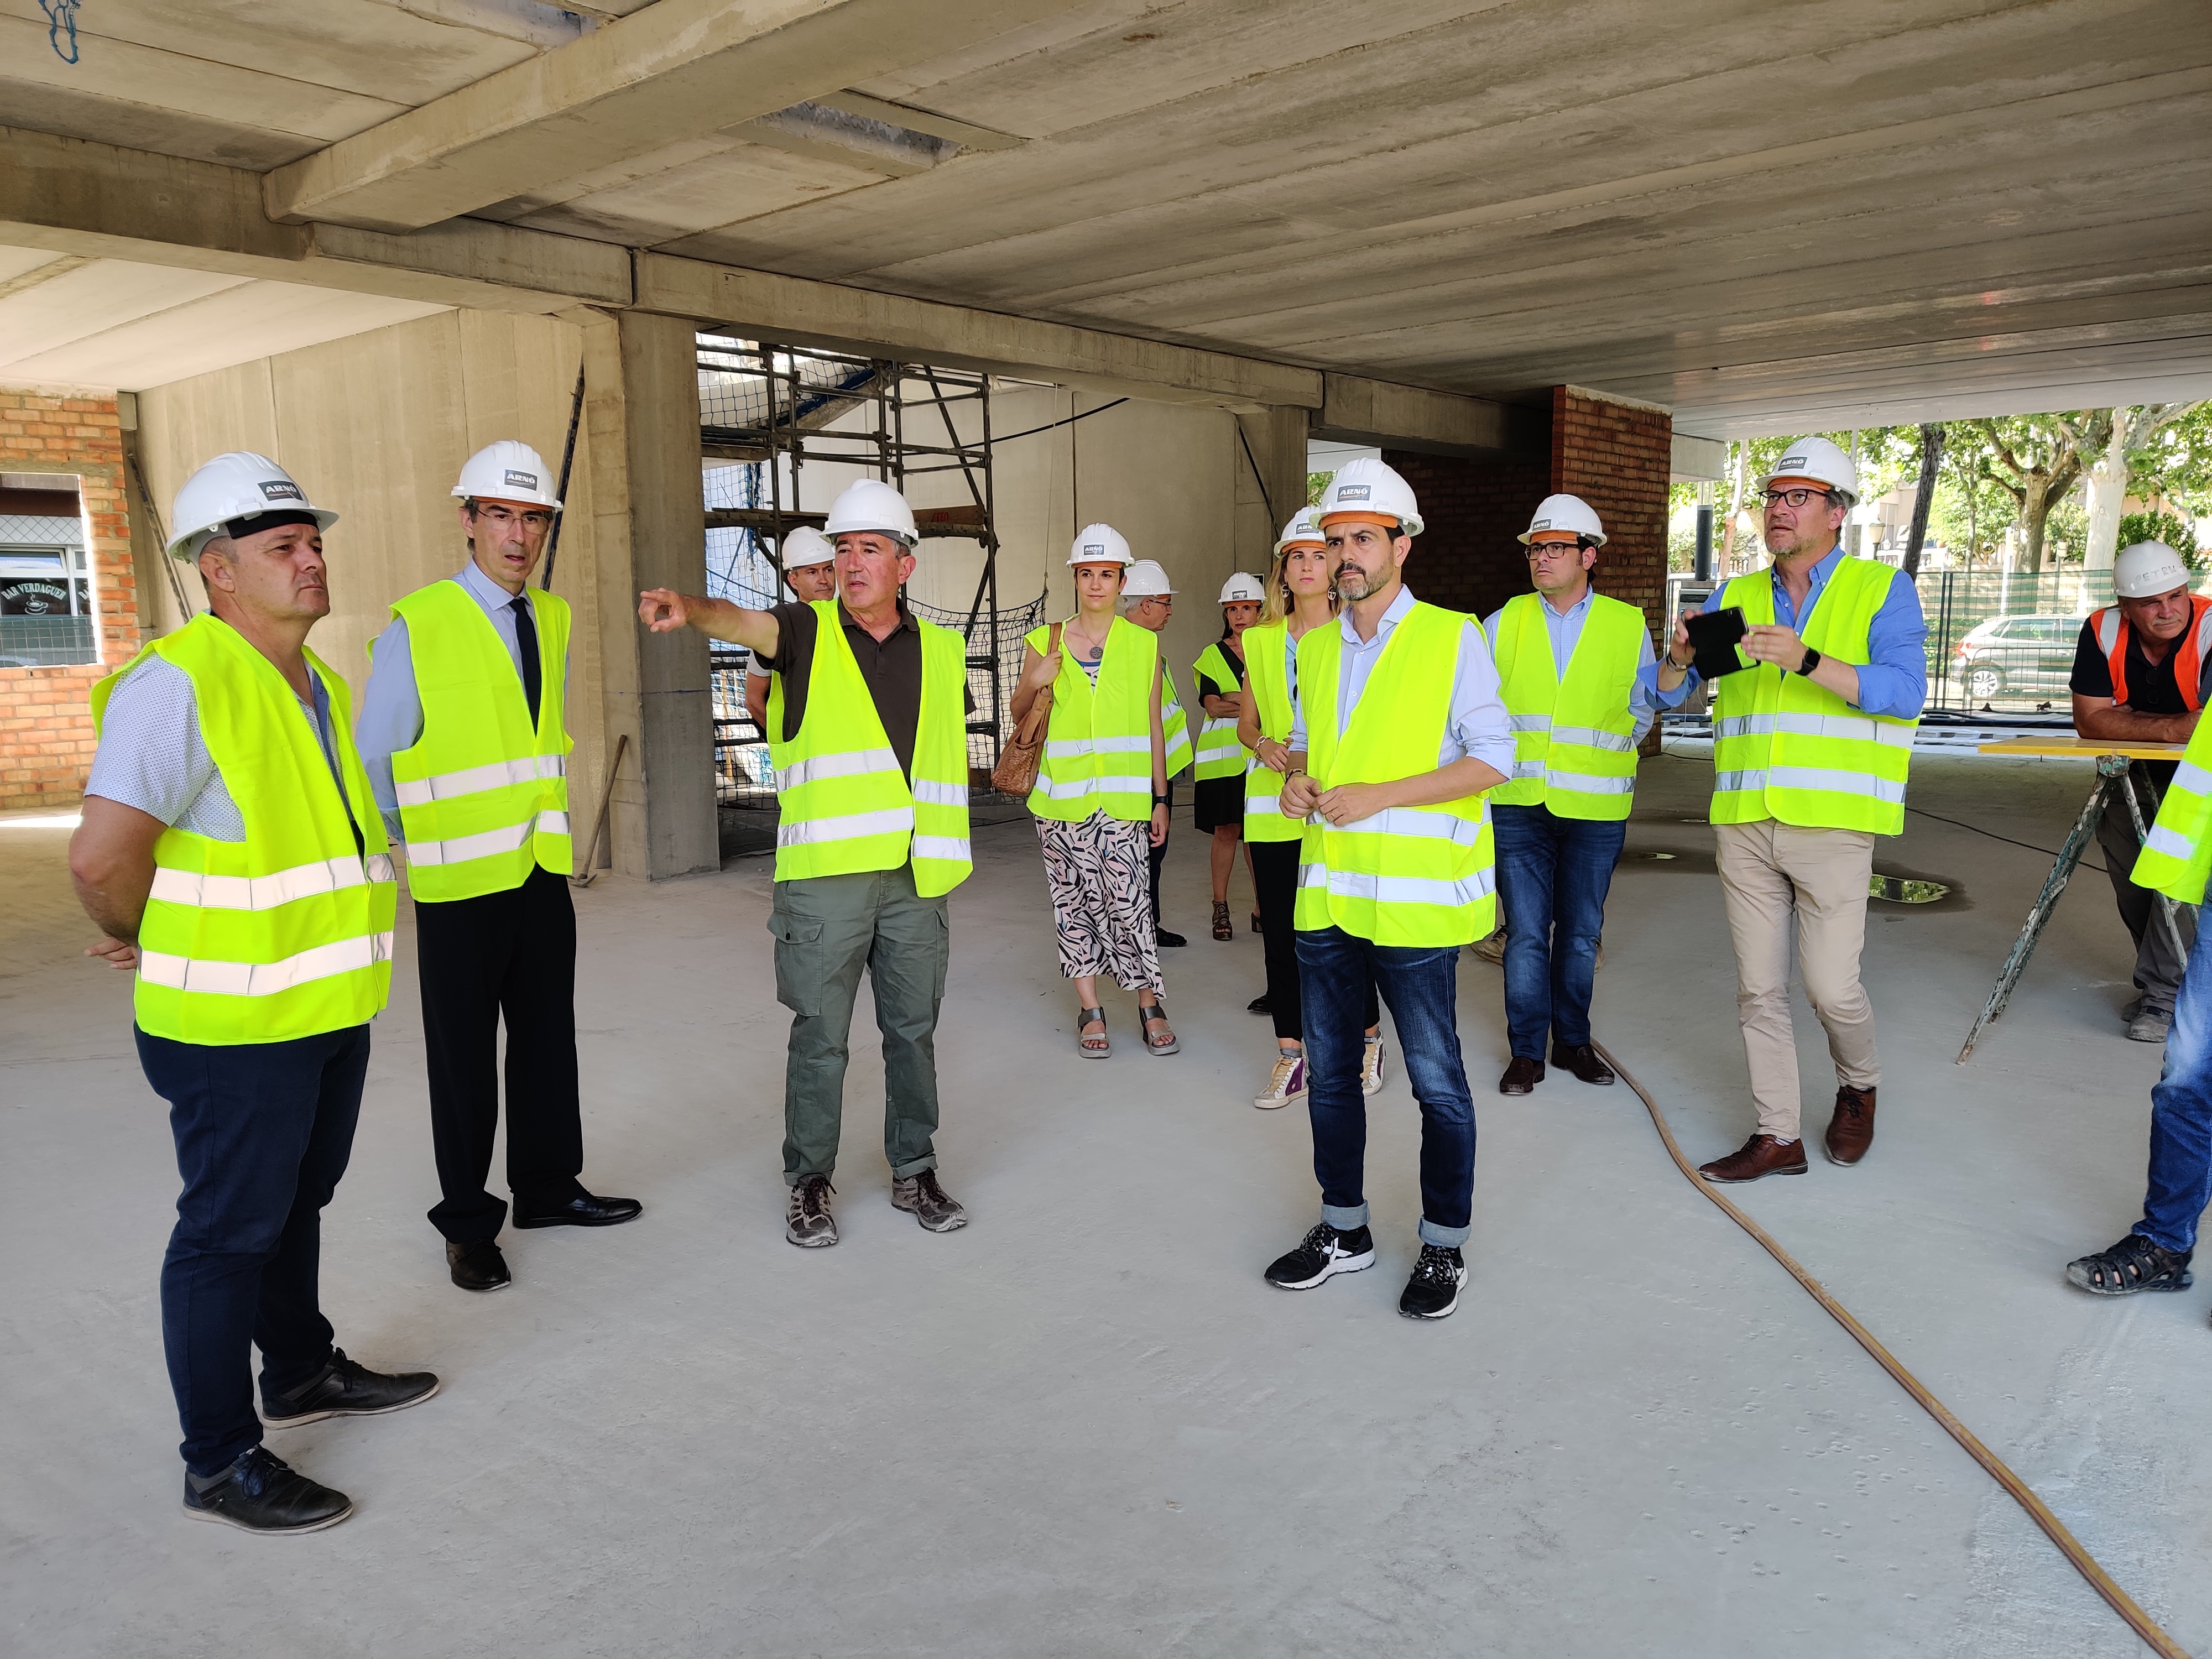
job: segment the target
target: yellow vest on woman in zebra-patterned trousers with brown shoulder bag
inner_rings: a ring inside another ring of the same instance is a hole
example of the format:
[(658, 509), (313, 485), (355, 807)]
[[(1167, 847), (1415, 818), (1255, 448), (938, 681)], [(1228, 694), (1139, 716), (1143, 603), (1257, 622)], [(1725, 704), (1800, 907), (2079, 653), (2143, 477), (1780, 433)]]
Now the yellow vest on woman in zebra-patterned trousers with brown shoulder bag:
[[(1040, 657), (1051, 628), (1035, 628), (1029, 646)], [(1099, 657), (1099, 684), (1060, 644), (1053, 717), (1044, 728), (1037, 787), (1029, 810), (1040, 818), (1082, 823), (1104, 810), (1121, 823), (1152, 821), (1152, 675), (1159, 639), (1135, 622), (1115, 617)]]

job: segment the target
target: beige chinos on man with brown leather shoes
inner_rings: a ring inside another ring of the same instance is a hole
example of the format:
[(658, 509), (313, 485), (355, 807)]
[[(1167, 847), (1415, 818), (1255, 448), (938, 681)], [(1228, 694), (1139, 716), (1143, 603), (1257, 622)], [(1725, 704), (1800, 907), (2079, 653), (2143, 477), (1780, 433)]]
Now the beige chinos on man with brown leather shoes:
[(1836, 1079), (1874, 1088), (1874, 1004), (1858, 982), (1867, 942), (1874, 836), (1765, 818), (1717, 823), (1721, 891), (1736, 945), (1736, 1020), (1752, 1073), (1759, 1133), (1798, 1139), (1796, 1031), (1790, 1024), (1790, 920), (1796, 918), (1805, 998), (1827, 1029)]

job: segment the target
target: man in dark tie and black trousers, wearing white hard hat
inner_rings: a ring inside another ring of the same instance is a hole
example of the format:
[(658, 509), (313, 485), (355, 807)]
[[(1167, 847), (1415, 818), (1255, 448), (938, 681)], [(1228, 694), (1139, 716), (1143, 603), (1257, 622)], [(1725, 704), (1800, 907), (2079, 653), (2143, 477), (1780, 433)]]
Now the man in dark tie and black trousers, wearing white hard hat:
[(637, 1199), (584, 1188), (568, 872), (568, 604), (529, 591), (560, 502), (544, 460), (502, 438), (462, 465), (469, 557), (392, 606), (361, 703), (361, 757), (407, 843), (429, 1133), (460, 1290), (513, 1283), (509, 1208), (487, 1190), (507, 1024), (507, 1188), (518, 1228), (611, 1228)]

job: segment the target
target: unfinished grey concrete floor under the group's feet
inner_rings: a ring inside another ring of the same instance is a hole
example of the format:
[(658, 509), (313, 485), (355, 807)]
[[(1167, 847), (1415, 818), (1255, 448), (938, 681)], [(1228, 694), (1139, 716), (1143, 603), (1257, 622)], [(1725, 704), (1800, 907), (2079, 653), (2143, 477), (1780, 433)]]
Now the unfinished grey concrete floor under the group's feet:
[[(1688, 823), (1710, 776), (1646, 770), (1597, 1006), (1692, 1157), (1750, 1128), (1710, 832)], [(1922, 759), (1913, 803), (2055, 847), (2086, 787), (2081, 765)], [(192, 1526), (155, 1296), (170, 1144), (128, 982), (75, 956), (64, 836), (0, 827), (11, 1652), (2139, 1652), (1683, 1183), (1628, 1088), (1493, 1093), (1500, 984), (1473, 958), (1458, 1316), (1394, 1312), (1416, 1219), (1396, 1066), (1369, 1150), (1383, 1261), (1301, 1296), (1261, 1283), (1314, 1217), (1310, 1144), (1301, 1113), (1248, 1104), (1272, 1046), (1243, 1009), (1259, 940), (1206, 938), (1188, 821), (1168, 863), (1183, 1053), (1141, 1053), (1113, 995), (1108, 1064), (1071, 1053), (1031, 830), (980, 832), (940, 1037), (945, 1177), (975, 1223), (929, 1237), (885, 1201), (860, 1046), (827, 1252), (781, 1237), (768, 865), (577, 894), (586, 1179), (646, 1214), (509, 1234), (498, 1296), (453, 1290), (422, 1221), (403, 907), (323, 1285), (352, 1354), (436, 1367), (445, 1391), (276, 1436), (354, 1493), (345, 1526)], [(1913, 816), (1882, 863), (1960, 894), (1869, 922), (1880, 1141), (1743, 1203), (2208, 1652), (2205, 1287), (2115, 1303), (2059, 1276), (2137, 1217), (2159, 1071), (2119, 1035), (2130, 958), (2104, 876), (2084, 872), (1960, 1068), (2048, 858)], [(1798, 1033), (1825, 1102), (1803, 1006)]]

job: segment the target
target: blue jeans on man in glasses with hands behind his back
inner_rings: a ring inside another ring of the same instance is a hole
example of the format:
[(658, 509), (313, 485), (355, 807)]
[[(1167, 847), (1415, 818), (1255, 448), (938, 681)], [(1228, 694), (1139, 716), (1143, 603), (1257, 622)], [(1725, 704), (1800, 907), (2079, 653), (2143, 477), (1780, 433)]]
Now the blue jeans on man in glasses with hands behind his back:
[(1506, 918), (1506, 1035), (1517, 1060), (1590, 1040), (1590, 984), (1606, 889), (1628, 841), (1621, 818), (1562, 818), (1551, 807), (1491, 807), (1498, 900)]

